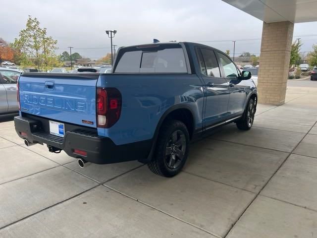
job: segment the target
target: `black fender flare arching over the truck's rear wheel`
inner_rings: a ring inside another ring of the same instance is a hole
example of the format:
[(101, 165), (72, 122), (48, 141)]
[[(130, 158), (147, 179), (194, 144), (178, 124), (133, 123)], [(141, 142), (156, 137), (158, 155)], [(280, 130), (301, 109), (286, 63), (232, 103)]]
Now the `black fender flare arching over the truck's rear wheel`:
[(158, 136), (159, 136), (159, 130), (160, 130), (160, 127), (162, 126), (163, 124), (163, 121), (170, 115), (170, 113), (172, 113), (173, 111), (175, 110), (178, 110), (178, 109), (186, 109), (186, 110), (189, 110), (190, 113), (192, 114), (192, 117), (193, 117), (193, 131), (189, 131), (190, 133), (193, 133), (194, 130), (195, 130), (195, 117), (194, 117), (194, 113), (193, 113), (193, 110), (190, 106), (186, 105), (186, 104), (177, 104), (177, 105), (173, 105), (171, 106), (169, 109), (167, 109), (163, 115), (160, 117), (159, 119), (159, 122), (157, 124), (157, 127), (155, 129), (155, 132), (154, 132), (154, 136), (153, 136), (153, 139), (152, 139), (152, 147), (151, 147), (151, 150), (150, 150), (150, 153), (148, 155), (147, 158), (145, 159), (142, 159), (142, 160), (139, 160), (139, 162), (141, 163), (144, 163), (144, 164), (147, 164), (149, 163), (152, 158), (153, 158), (153, 154), (154, 154), (154, 151), (155, 151), (155, 147), (156, 147), (156, 144), (157, 144), (157, 140), (158, 140)]

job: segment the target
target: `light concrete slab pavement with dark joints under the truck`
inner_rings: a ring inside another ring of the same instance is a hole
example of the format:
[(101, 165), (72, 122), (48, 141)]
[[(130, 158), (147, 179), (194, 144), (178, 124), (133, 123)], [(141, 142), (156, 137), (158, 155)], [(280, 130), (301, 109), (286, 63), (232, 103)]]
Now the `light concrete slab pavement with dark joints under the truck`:
[(80, 169), (1, 122), (0, 237), (316, 236), (317, 83), (304, 83), (283, 106), (258, 105), (250, 131), (192, 144), (172, 179), (138, 162)]

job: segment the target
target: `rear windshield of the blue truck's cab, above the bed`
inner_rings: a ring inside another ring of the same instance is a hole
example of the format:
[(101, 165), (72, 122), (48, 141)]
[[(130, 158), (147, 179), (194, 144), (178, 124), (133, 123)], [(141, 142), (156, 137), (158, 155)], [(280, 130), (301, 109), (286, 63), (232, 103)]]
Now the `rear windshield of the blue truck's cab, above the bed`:
[(184, 51), (176, 48), (132, 48), (123, 52), (114, 73), (187, 73)]

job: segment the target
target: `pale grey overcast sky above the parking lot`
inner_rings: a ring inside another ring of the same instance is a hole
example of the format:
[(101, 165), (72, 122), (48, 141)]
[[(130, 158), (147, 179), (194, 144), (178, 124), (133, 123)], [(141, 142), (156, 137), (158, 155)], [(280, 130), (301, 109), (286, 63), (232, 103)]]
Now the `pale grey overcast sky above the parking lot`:
[[(118, 46), (152, 43), (157, 38), (204, 42), (232, 53), (231, 40), (237, 40), (237, 54), (260, 53), (262, 21), (221, 0), (4, 1), (0, 37), (14, 41), (28, 15), (37, 17), (41, 27), (58, 41), (57, 54), (72, 46), (73, 52), (98, 59), (110, 52), (105, 30), (117, 30), (113, 44)], [(302, 38), (303, 52), (317, 44), (317, 36), (307, 36), (317, 35), (316, 29), (317, 22), (295, 24), (294, 38)]]

